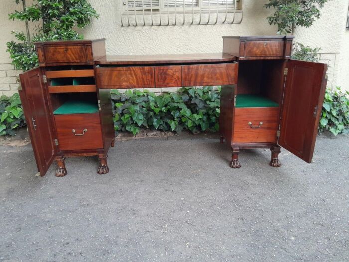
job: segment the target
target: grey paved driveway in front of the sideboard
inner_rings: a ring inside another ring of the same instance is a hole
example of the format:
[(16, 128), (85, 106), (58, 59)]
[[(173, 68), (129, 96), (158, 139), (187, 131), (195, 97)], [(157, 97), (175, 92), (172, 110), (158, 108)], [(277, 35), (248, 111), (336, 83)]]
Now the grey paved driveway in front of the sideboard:
[(349, 261), (349, 137), (320, 136), (314, 163), (240, 154), (217, 135), (117, 142), (45, 177), (31, 145), (0, 146), (0, 261)]

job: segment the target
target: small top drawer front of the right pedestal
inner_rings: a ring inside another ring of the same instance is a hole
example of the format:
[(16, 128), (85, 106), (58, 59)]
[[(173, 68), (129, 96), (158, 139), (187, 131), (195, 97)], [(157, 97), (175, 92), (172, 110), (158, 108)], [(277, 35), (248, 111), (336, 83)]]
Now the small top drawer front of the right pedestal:
[(284, 55), (284, 41), (246, 41), (245, 57)]

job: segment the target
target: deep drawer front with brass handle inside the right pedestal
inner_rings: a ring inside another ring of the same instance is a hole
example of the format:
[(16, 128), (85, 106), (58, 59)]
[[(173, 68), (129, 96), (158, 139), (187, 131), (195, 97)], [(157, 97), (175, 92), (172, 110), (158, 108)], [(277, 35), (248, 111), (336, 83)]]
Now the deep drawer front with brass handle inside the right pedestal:
[(235, 108), (233, 143), (276, 143), (279, 110), (279, 107)]

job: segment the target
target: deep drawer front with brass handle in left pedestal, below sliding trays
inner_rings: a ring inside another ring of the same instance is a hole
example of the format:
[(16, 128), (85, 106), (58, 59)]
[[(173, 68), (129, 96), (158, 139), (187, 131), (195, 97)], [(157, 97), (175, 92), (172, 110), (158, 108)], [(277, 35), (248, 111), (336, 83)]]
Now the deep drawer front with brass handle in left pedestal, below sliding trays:
[(99, 113), (55, 115), (60, 150), (103, 148)]

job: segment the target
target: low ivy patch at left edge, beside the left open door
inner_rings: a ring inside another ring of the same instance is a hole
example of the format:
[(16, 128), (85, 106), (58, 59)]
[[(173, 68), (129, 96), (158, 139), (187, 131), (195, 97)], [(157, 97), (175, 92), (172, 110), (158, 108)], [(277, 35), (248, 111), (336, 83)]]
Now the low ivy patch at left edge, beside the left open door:
[(16, 129), (25, 125), (19, 94), (0, 97), (0, 136), (16, 134)]

